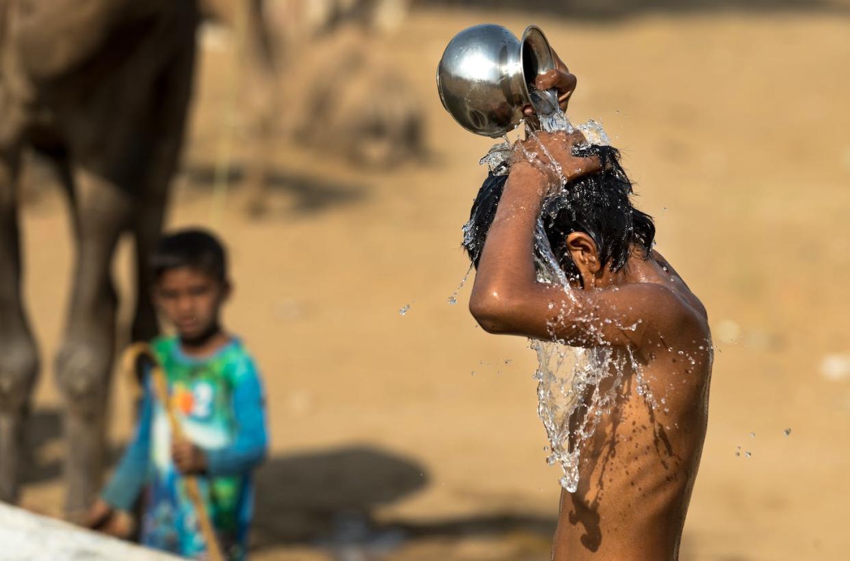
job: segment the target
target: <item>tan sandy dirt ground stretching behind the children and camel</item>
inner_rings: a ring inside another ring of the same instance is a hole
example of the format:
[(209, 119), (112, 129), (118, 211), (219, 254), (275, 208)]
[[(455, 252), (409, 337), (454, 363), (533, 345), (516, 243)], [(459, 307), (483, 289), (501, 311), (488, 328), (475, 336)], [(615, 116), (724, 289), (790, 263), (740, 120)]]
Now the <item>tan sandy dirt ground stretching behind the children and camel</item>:
[[(547, 32), (579, 77), (573, 122), (604, 122), (660, 251), (709, 310), (719, 352), (683, 560), (846, 558), (850, 19), (723, 11), (603, 24), (446, 10), (416, 11), (382, 44), (427, 112), (423, 161), (363, 172), (281, 144), (264, 218), (241, 212), (235, 184), (212, 224), (226, 52), (205, 51), (169, 224), (214, 226), (227, 241), (227, 325), (263, 369), (272, 453), (253, 558), (548, 558), (558, 472), (544, 461), (534, 354), (474, 325), (468, 286), (447, 302), (467, 270), (460, 228), (491, 141), (445, 114), (434, 69), (456, 31), (485, 20)], [(72, 256), (59, 195), (27, 207), (24, 228), (45, 364), (24, 502), (59, 513), (50, 366)], [(128, 263), (122, 246), (125, 296)], [(130, 430), (127, 387), (117, 376), (115, 454)]]

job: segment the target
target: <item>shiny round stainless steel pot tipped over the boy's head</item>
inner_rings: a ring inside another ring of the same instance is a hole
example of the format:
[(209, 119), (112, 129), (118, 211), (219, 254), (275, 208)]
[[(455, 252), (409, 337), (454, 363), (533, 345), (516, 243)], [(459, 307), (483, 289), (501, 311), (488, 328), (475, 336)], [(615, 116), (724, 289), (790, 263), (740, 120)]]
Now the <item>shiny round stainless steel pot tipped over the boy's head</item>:
[(437, 66), (445, 111), (467, 131), (499, 137), (519, 125), (538, 74), (552, 70), (549, 42), (537, 26), (517, 39), (502, 26), (484, 24), (458, 33)]

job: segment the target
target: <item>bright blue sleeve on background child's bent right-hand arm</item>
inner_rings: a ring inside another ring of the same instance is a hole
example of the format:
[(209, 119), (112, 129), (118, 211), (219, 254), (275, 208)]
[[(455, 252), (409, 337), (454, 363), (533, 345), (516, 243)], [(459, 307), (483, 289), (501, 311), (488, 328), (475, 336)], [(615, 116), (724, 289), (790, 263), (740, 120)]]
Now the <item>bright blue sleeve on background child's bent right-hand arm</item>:
[(207, 471), (212, 477), (246, 473), (257, 467), (266, 456), (266, 434), (263, 387), (250, 361), (241, 372), (233, 389), (232, 406), (236, 433), (232, 444), (216, 450), (205, 450)]

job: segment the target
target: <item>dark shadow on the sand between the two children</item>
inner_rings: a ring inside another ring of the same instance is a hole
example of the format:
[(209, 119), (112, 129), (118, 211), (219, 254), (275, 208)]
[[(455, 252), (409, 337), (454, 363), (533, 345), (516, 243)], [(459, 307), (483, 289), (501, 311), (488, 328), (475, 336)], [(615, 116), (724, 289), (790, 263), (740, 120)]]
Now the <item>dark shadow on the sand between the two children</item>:
[[(280, 545), (380, 555), (427, 538), (497, 536), (517, 531), (548, 540), (555, 519), (492, 513), (428, 522), (377, 522), (373, 510), (423, 490), (428, 474), (409, 458), (370, 447), (275, 456), (258, 470), (252, 549)], [(344, 555), (343, 555), (344, 557)]]

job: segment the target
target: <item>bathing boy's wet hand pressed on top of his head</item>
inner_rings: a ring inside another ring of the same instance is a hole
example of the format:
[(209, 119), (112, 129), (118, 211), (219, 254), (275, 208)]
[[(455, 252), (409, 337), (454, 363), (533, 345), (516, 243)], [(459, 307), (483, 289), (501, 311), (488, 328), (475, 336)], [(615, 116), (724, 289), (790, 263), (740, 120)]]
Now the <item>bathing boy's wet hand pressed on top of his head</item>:
[[(564, 182), (572, 181), (575, 178), (602, 169), (602, 164), (597, 156), (573, 155), (575, 145), (585, 142), (587, 140), (581, 131), (575, 131), (571, 134), (538, 131), (528, 139), (517, 141), (513, 156), (514, 165), (522, 165), (527, 162), (546, 173), (550, 183), (558, 183), (561, 180)], [(529, 161), (531, 156), (533, 158)], [(553, 165), (553, 161), (557, 165)], [(558, 173), (558, 168), (560, 173)]]

